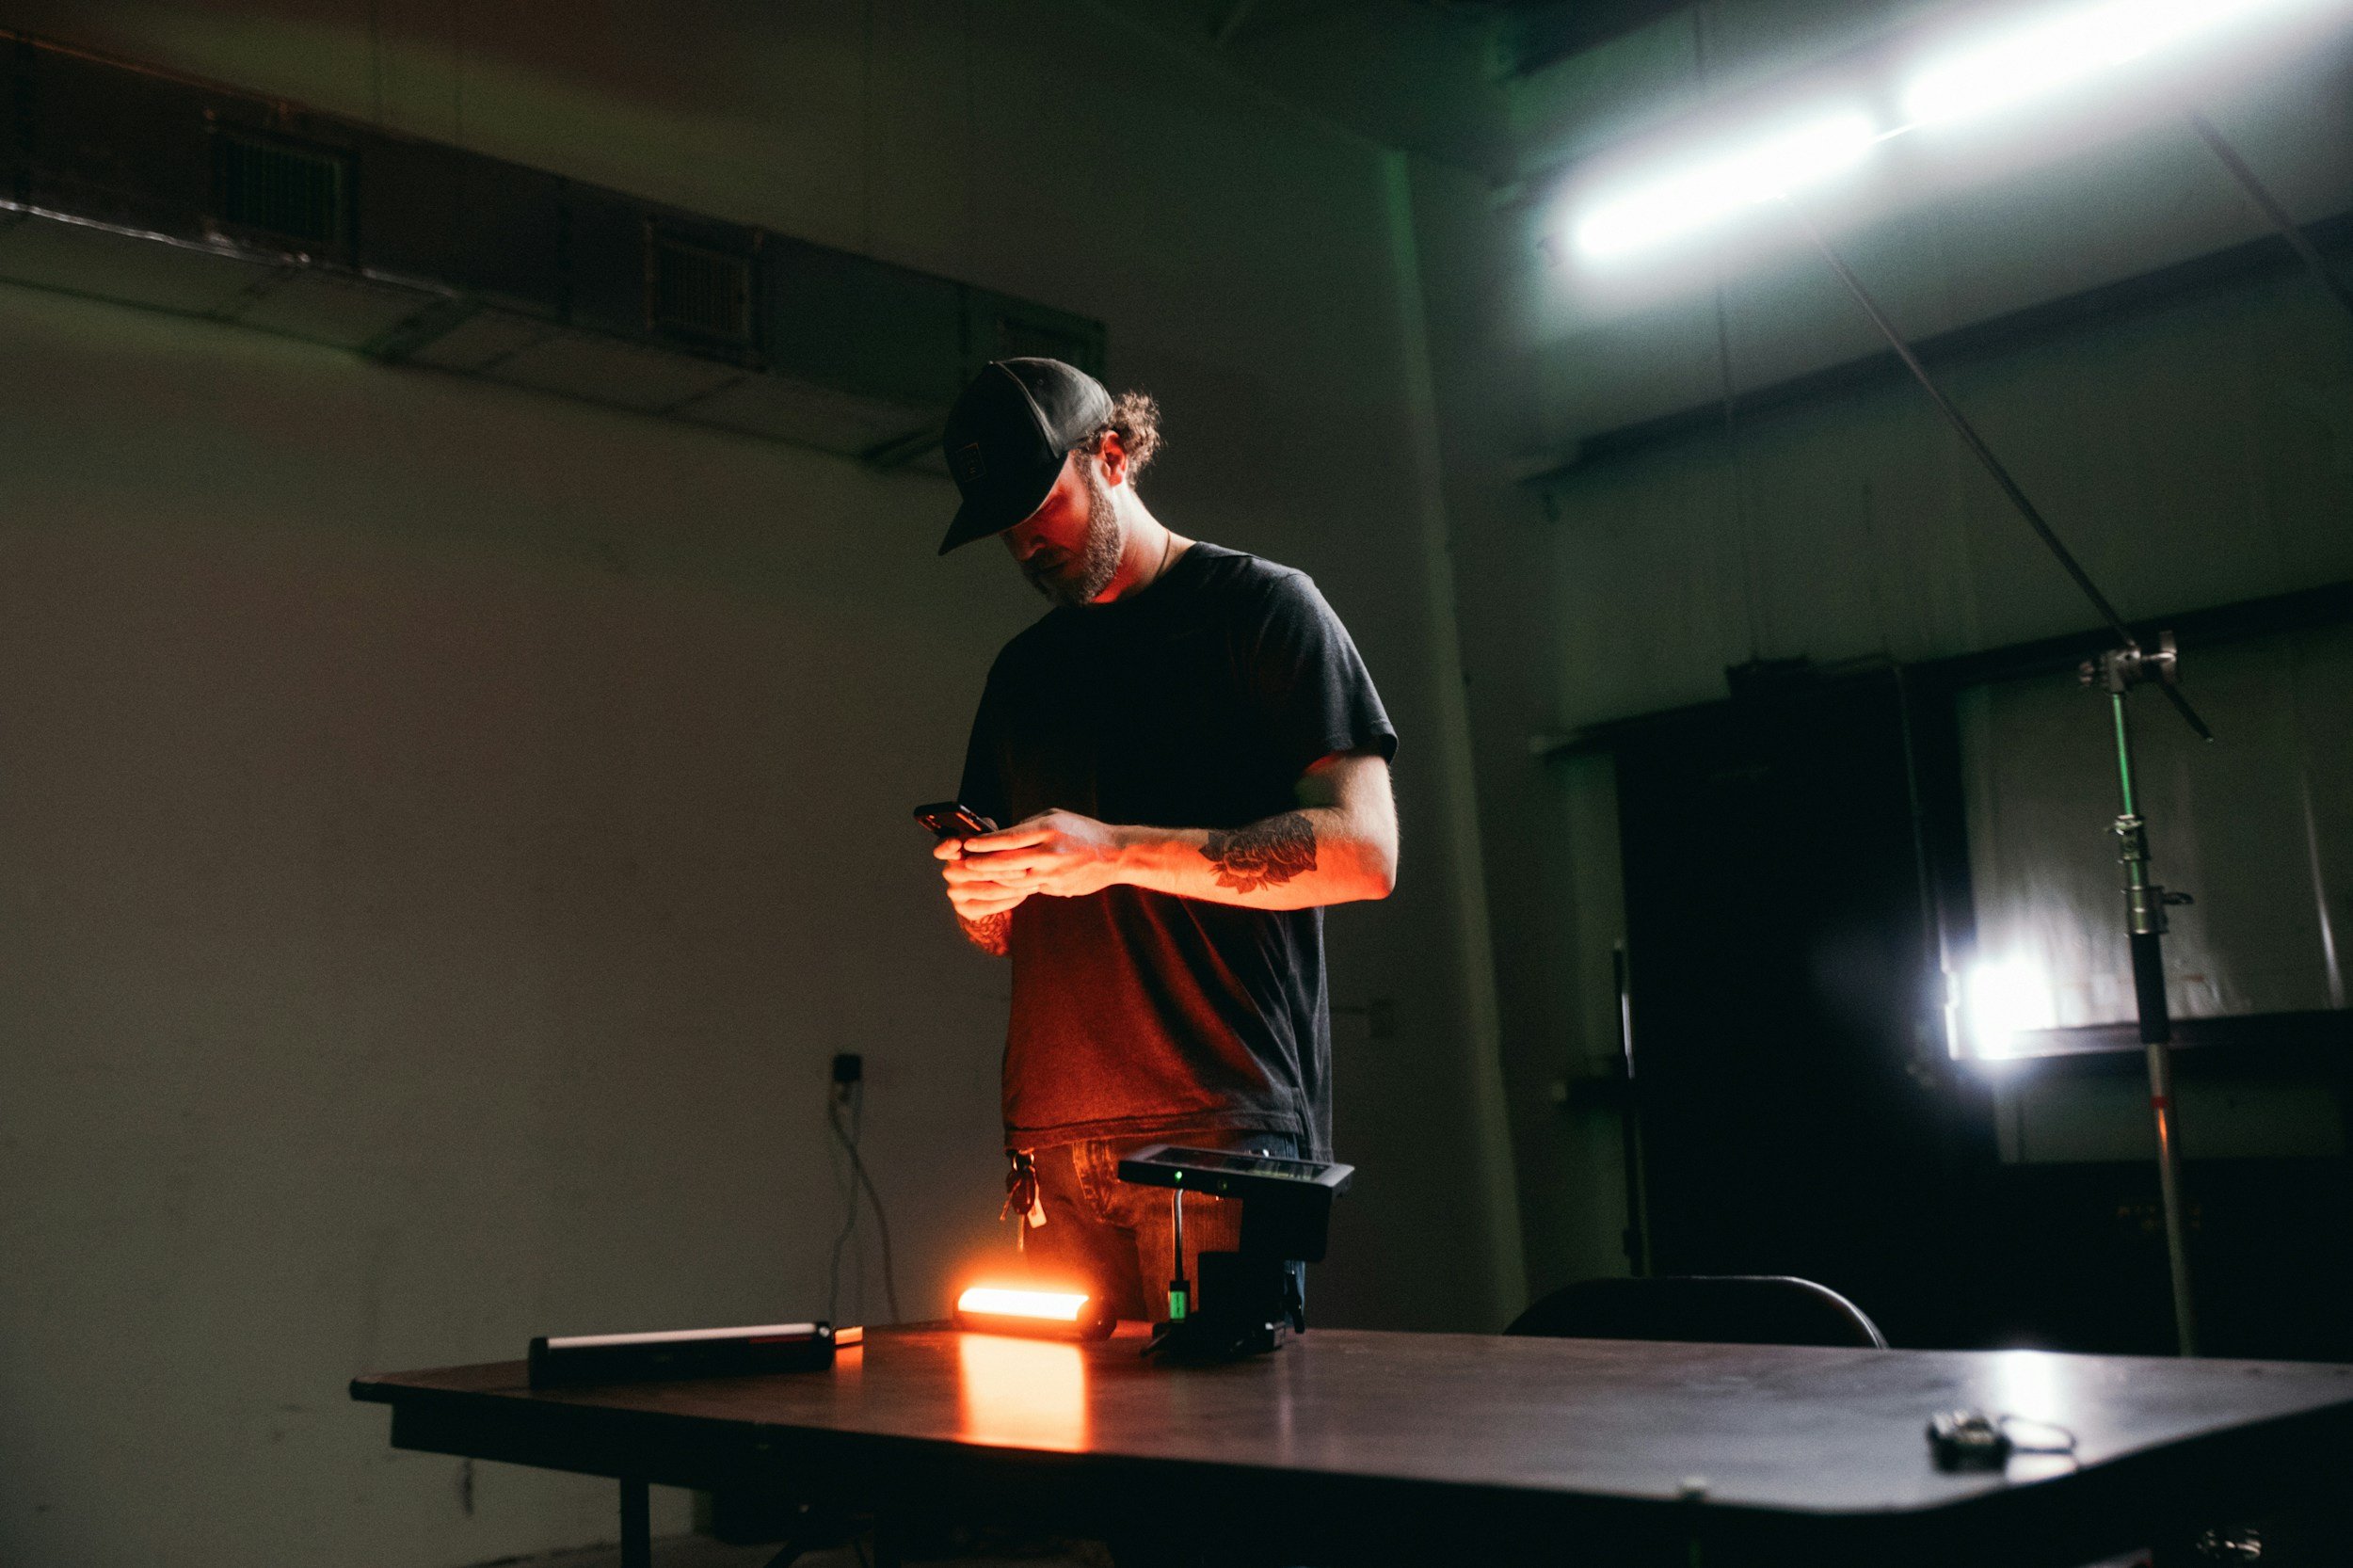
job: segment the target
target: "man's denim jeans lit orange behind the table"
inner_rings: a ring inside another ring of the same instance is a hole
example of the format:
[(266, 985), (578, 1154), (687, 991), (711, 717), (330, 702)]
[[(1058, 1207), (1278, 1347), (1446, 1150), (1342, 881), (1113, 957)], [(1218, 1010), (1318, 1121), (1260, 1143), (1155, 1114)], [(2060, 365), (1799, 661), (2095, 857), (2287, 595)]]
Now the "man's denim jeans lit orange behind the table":
[[(1087, 1281), (1122, 1318), (1155, 1323), (1169, 1316), (1174, 1215), (1169, 1187), (1120, 1180), (1120, 1158), (1151, 1144), (1181, 1149), (1240, 1149), (1299, 1158), (1287, 1132), (1202, 1130), (1146, 1140), (1049, 1144), (1033, 1154), (1045, 1224), (1024, 1241), (1040, 1271)], [(1184, 1198), (1184, 1276), (1200, 1290), (1200, 1253), (1233, 1253), (1242, 1241), (1242, 1201), (1188, 1191)], [(1292, 1264), (1294, 1281), (1304, 1269)], [(1297, 1281), (1304, 1285), (1304, 1281)], [(1301, 1290), (1304, 1300), (1304, 1290)]]

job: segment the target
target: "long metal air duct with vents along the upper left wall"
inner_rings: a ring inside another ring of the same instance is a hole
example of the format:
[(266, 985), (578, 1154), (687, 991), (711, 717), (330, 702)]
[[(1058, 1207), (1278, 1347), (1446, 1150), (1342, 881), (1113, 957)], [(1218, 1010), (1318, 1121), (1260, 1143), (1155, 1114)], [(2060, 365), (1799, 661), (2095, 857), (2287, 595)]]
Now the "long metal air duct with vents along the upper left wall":
[(0, 280), (861, 457), (1104, 325), (0, 31)]

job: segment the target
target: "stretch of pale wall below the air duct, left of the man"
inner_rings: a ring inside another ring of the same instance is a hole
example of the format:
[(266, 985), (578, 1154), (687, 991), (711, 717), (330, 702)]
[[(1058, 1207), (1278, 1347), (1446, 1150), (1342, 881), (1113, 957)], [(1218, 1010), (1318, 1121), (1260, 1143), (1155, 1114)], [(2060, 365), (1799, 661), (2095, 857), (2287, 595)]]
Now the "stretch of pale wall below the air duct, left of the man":
[(939, 1300), (1002, 982), (904, 810), (1007, 617), (927, 485), (0, 304), (5, 1556), (595, 1540), (341, 1382), (824, 1311), (835, 1050)]

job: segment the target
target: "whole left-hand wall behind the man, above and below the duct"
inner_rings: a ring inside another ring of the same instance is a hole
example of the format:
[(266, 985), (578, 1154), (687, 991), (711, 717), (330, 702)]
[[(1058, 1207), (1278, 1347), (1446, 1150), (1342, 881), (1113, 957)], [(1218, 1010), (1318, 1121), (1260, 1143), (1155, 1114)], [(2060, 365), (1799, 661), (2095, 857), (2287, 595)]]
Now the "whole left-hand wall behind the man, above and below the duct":
[[(0, 24), (1108, 320), (1146, 494), (1315, 572), (1405, 735), (1402, 890), (1332, 918), (1318, 1314), (1520, 1304), (1391, 155), (1042, 0)], [(1038, 612), (932, 558), (948, 487), (21, 290), (0, 365), (0, 1559), (609, 1537), (344, 1380), (816, 1311), (835, 1050), (939, 1311), (998, 1245), (1005, 979), (906, 808)]]

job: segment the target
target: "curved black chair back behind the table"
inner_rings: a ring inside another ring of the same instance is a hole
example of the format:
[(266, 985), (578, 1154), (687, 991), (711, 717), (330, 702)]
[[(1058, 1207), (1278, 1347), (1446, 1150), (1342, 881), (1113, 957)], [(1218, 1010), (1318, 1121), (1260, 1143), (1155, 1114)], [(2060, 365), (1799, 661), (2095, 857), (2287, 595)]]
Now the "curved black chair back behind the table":
[(1506, 1335), (1555, 1340), (1685, 1340), (1699, 1344), (1840, 1344), (1887, 1349), (1861, 1307), (1786, 1274), (1671, 1274), (1562, 1285)]

